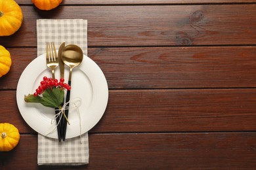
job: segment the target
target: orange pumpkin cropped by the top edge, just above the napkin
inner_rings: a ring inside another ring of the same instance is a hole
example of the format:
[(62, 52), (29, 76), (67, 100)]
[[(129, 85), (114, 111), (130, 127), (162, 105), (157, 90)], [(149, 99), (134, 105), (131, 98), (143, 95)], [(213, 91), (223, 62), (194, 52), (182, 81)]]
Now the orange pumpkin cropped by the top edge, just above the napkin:
[(32, 3), (38, 9), (51, 10), (58, 7), (62, 3), (62, 0), (32, 0)]

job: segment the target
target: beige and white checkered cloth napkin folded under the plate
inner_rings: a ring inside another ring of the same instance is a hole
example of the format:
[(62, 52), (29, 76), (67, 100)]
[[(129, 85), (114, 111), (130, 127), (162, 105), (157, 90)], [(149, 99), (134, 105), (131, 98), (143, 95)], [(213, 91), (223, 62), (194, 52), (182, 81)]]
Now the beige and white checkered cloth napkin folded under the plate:
[[(87, 55), (87, 20), (37, 20), (37, 56), (44, 54), (46, 42), (54, 42), (56, 49), (62, 42), (80, 46)], [(39, 165), (83, 165), (89, 163), (88, 133), (80, 137), (58, 139), (38, 134)]]

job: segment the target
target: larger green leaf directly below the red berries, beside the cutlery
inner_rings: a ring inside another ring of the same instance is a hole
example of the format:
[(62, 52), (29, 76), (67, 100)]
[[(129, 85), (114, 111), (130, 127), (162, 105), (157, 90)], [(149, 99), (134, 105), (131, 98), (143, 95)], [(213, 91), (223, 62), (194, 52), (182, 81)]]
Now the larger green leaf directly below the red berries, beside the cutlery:
[(43, 92), (41, 104), (45, 107), (56, 108), (63, 103), (64, 90), (62, 88), (48, 88)]

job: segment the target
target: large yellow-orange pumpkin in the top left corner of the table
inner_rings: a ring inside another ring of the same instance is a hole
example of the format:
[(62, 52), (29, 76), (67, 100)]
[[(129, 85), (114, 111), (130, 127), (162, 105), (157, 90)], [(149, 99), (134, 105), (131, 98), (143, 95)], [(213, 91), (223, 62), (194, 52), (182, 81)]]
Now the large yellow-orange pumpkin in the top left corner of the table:
[(23, 14), (14, 0), (0, 0), (0, 36), (9, 36), (22, 25)]

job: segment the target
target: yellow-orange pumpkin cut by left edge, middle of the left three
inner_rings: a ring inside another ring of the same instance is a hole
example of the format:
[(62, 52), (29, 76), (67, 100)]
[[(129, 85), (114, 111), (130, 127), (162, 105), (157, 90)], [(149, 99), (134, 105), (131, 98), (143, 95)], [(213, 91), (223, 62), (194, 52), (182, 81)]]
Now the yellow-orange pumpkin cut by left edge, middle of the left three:
[(6, 75), (12, 65), (10, 52), (0, 45), (0, 77)]

